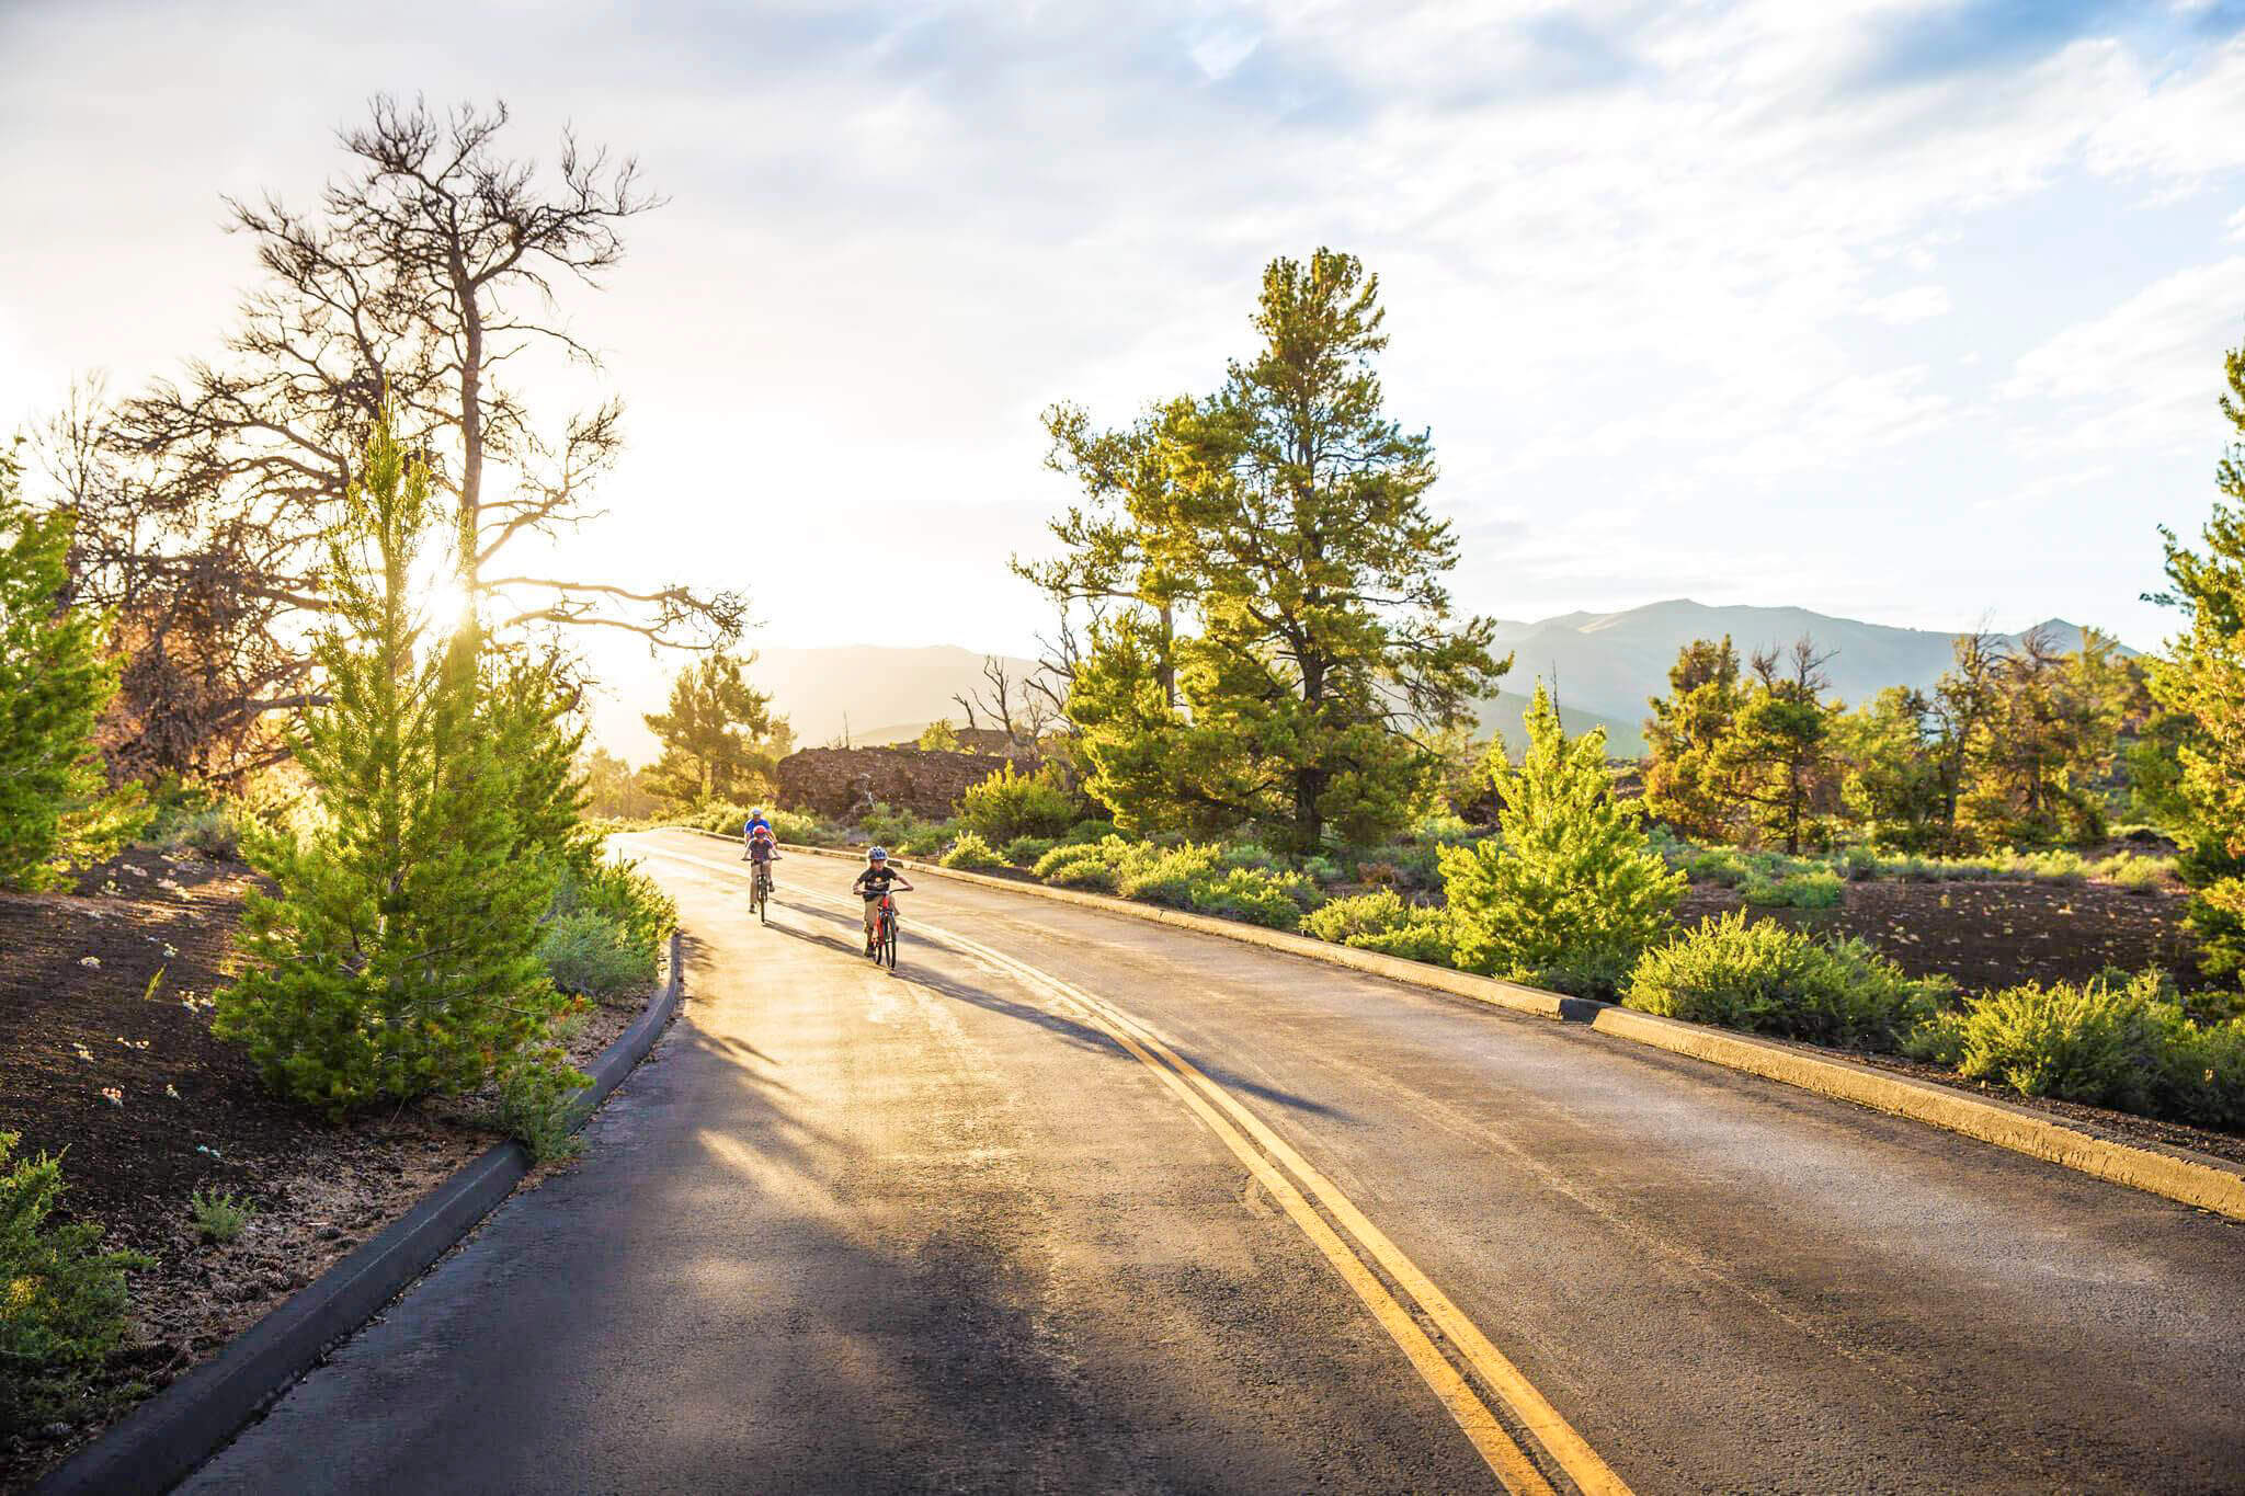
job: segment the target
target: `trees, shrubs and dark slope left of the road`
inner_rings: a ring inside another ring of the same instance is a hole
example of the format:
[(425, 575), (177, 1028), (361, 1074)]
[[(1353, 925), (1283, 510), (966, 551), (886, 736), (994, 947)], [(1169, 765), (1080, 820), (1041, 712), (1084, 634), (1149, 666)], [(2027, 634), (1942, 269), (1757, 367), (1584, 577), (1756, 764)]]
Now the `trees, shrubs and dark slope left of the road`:
[(494, 1135), (570, 1148), (676, 911), (586, 819), (662, 798), (584, 751), (566, 630), (705, 648), (658, 789), (786, 751), (696, 736), (754, 718), (743, 599), (525, 574), (622, 437), (516, 359), (651, 200), (505, 126), (377, 99), (312, 213), (236, 209), (224, 357), (0, 449), (0, 1485)]

